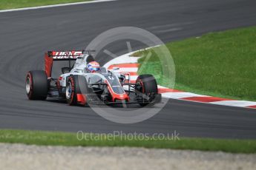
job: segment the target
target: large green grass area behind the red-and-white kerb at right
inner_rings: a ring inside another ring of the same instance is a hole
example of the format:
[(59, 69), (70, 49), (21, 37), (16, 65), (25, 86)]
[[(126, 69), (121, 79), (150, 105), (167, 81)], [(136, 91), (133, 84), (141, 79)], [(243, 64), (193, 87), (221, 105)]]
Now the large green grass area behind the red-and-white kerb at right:
[[(256, 27), (208, 33), (166, 44), (176, 68), (175, 89), (223, 98), (256, 101)], [(134, 55), (153, 55), (140, 74), (161, 73), (160, 60), (154, 50)], [(164, 77), (159, 84), (168, 86)]]

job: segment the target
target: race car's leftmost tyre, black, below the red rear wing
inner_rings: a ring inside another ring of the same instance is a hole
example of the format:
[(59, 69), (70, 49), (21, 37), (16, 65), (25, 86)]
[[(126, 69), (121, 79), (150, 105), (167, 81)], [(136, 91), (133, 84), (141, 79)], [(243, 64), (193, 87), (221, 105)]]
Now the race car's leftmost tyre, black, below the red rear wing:
[(27, 72), (26, 93), (30, 100), (45, 101), (48, 93), (47, 75), (43, 70)]

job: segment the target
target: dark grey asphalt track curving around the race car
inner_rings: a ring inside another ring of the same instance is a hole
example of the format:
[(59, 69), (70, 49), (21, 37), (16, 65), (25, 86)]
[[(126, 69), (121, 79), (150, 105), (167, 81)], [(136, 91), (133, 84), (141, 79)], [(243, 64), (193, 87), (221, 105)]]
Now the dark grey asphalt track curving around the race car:
[[(255, 7), (255, 0), (119, 0), (0, 13), (0, 128), (256, 138), (254, 109), (170, 100), (153, 118), (122, 124), (86, 107), (28, 101), (24, 90), (26, 72), (43, 68), (47, 50), (84, 49), (99, 33), (122, 26), (148, 30), (164, 42), (252, 26)], [(127, 47), (119, 43), (109, 51), (120, 55)], [(111, 58), (97, 59), (104, 64)]]

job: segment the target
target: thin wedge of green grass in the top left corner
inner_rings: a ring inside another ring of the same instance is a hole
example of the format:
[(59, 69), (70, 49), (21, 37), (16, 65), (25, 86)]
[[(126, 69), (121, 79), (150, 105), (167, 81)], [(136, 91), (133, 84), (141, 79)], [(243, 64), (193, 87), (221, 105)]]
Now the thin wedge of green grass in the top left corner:
[(91, 0), (0, 0), (0, 10), (37, 7), (49, 4), (65, 4), (70, 2), (91, 1)]

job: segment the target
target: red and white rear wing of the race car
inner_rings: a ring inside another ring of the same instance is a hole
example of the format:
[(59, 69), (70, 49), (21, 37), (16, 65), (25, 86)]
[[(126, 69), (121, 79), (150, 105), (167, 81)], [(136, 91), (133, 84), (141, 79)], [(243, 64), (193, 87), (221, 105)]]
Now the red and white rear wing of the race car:
[(82, 55), (85, 50), (72, 50), (72, 51), (48, 51), (45, 53), (45, 72), (48, 78), (51, 77), (53, 61), (75, 61)]

